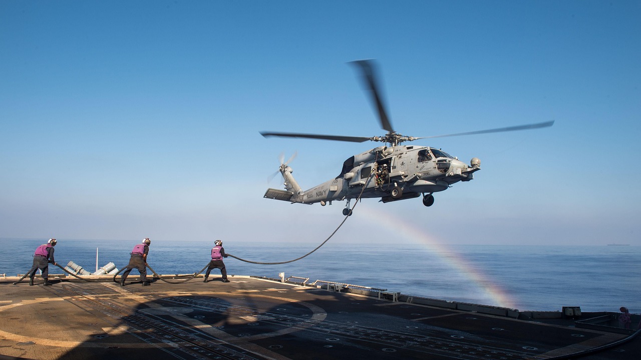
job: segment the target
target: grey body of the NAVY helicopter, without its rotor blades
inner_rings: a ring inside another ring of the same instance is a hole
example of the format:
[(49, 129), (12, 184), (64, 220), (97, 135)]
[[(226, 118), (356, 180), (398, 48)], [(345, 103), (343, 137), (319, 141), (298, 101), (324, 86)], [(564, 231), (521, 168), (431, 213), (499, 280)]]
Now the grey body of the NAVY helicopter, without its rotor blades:
[(283, 166), (280, 171), (287, 191), (269, 189), (265, 197), (301, 204), (320, 202), (323, 206), (333, 200), (380, 198), (389, 202), (419, 197), (421, 193), (431, 197), (431, 193), (442, 192), (458, 181), (470, 181), (478, 170), (477, 158), (467, 165), (432, 147), (381, 146), (351, 156), (337, 177), (305, 191), (294, 180), (292, 168)]

